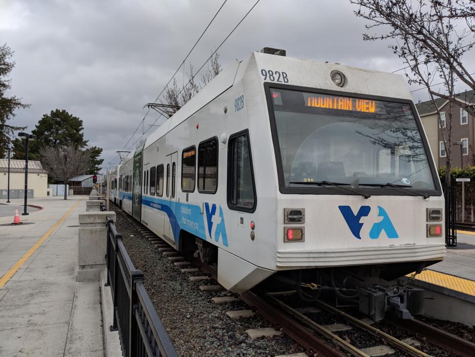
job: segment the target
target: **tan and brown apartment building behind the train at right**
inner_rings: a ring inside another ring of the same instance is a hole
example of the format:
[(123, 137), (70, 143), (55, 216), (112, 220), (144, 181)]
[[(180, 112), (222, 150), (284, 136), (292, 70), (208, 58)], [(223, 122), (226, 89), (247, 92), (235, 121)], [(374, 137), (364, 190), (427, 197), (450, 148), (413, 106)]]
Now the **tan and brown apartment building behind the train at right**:
[[(458, 93), (456, 99), (460, 101), (460, 104), (465, 102), (473, 106), (475, 105), (475, 91)], [(436, 105), (441, 112), (442, 127), (438, 121)], [(449, 112), (449, 101), (438, 98), (435, 104), (431, 100), (419, 102), (416, 104), (416, 109), (421, 118), (437, 167), (445, 166), (447, 152), (444, 146), (443, 132), (447, 133), (448, 129), (446, 115), (448, 116)], [(461, 167), (461, 162), (464, 166), (473, 165), (475, 127), (473, 117), (461, 105), (453, 106), (452, 109), (452, 142), (454, 141), (460, 141), (462, 145), (452, 146), (452, 166)]]

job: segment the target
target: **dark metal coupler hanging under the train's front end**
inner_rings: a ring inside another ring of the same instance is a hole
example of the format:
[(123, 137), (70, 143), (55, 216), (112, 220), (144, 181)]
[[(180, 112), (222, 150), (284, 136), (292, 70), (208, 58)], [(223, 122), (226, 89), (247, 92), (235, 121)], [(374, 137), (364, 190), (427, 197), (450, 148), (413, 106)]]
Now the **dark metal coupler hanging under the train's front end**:
[(370, 316), (374, 321), (384, 318), (386, 311), (408, 319), (413, 314), (421, 314), (424, 305), (424, 291), (408, 288), (404, 285), (370, 284), (358, 288), (360, 312)]

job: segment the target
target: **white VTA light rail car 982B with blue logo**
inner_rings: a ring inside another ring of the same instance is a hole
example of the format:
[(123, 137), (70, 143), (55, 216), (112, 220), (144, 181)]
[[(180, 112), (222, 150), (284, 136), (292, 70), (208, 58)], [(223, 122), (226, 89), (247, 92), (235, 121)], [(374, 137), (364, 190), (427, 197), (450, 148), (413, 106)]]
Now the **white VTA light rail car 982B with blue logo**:
[[(217, 168), (207, 167), (216, 155)], [(183, 170), (193, 156), (195, 169)], [(427, 209), (444, 207), (441, 184), (399, 75), (254, 52), (153, 132), (117, 175), (125, 211), (178, 250), (195, 237), (216, 246), (218, 281), (236, 292), (280, 271), (388, 265), (403, 275), (445, 255), (442, 219), (439, 236), (427, 233)], [(286, 223), (289, 209), (303, 222)]]

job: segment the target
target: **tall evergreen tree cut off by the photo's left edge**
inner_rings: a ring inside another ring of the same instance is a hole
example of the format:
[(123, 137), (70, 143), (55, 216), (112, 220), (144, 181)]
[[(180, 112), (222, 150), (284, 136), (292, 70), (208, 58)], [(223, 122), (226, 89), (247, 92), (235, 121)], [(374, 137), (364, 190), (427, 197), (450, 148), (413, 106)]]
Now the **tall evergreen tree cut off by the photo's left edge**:
[(0, 46), (0, 158), (6, 156), (14, 131), (26, 128), (9, 125), (7, 121), (15, 117), (15, 110), (30, 106), (30, 104), (23, 103), (21, 98), (5, 96), (5, 92), (12, 87), (8, 76), (15, 67), (15, 62), (11, 60), (13, 53), (7, 44)]

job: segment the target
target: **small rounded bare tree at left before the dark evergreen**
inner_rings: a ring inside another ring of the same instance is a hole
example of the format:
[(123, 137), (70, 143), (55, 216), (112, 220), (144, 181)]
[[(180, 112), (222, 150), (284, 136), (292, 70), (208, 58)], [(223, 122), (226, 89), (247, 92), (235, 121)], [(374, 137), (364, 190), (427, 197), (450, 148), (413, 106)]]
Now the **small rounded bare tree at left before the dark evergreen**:
[(64, 183), (64, 199), (67, 199), (66, 185), (76, 175), (89, 168), (89, 151), (69, 147), (46, 147), (40, 151), (41, 163), (54, 180)]

